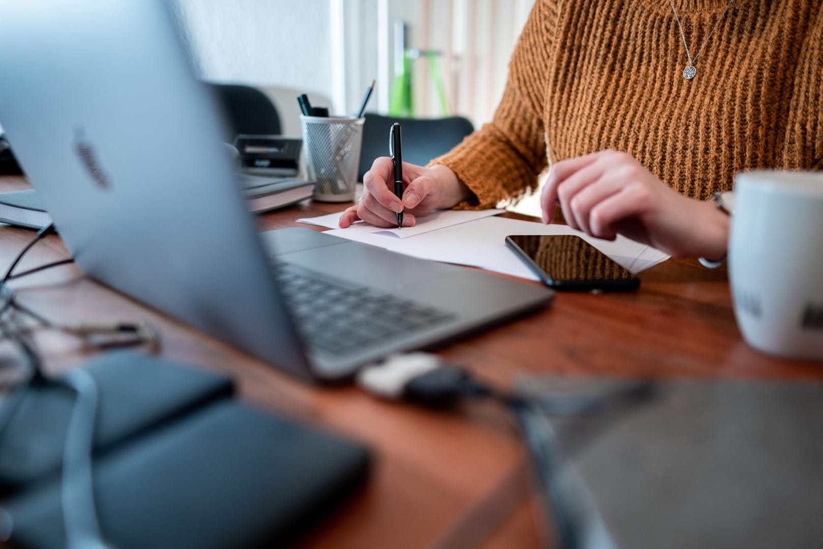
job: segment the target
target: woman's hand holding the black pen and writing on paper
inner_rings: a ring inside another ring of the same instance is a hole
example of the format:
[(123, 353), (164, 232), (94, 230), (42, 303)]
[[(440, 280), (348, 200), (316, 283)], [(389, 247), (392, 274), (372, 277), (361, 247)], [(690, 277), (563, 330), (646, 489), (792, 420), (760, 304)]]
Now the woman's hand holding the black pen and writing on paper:
[(394, 196), (392, 159), (381, 156), (363, 175), (363, 197), (356, 206), (340, 216), (346, 228), (357, 220), (379, 227), (397, 226), (397, 214), (403, 213), (403, 226), (414, 226), (417, 216), (432, 210), (453, 207), (472, 195), (458, 176), (444, 165), (424, 168), (403, 162), (403, 198)]

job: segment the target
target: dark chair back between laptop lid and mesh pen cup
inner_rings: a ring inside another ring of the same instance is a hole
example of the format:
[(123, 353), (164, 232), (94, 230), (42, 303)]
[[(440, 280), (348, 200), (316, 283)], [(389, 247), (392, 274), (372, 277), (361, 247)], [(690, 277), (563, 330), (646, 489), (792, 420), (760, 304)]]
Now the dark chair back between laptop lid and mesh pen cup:
[(226, 113), (227, 143), (234, 143), (241, 133), (280, 135), (280, 115), (268, 96), (253, 86), (213, 84), (217, 100)]

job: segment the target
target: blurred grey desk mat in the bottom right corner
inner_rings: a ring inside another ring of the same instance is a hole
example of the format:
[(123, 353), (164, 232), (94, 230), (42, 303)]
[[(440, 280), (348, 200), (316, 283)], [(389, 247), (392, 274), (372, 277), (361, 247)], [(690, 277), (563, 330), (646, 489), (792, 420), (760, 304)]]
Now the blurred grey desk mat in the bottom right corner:
[(662, 382), (635, 407), (551, 423), (607, 529), (597, 547), (823, 547), (823, 384)]

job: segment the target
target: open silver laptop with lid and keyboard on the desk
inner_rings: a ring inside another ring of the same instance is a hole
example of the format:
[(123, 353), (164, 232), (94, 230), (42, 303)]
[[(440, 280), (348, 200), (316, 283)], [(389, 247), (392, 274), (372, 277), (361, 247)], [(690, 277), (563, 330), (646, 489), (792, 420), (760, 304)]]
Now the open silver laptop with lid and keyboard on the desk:
[(551, 300), (314, 230), (258, 234), (167, 2), (3, 0), (0, 52), (0, 120), (77, 264), (272, 365), (341, 379)]

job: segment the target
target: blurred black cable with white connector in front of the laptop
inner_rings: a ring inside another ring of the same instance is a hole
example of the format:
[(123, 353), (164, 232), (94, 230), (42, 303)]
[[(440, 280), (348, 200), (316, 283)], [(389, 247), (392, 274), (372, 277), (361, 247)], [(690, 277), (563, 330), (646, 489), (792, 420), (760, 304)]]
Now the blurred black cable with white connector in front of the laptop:
[(491, 398), (514, 417), (528, 450), (546, 523), (554, 523), (563, 549), (610, 547), (609, 533), (583, 481), (560, 449), (549, 416), (596, 416), (621, 412), (649, 400), (650, 382), (623, 384), (599, 394), (510, 393), (456, 365), (424, 353), (390, 358), (367, 368), (358, 382), (384, 398), (426, 407), (455, 407), (466, 399)]

